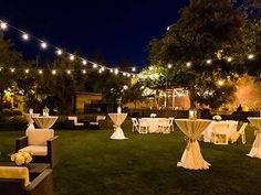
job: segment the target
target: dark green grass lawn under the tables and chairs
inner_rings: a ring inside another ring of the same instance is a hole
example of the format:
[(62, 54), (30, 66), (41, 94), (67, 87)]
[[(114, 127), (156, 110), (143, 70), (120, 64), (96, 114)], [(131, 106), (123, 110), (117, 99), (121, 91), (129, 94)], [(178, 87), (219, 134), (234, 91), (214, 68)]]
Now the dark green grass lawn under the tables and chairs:
[[(55, 195), (132, 194), (261, 194), (261, 160), (246, 156), (253, 142), (213, 145), (200, 142), (211, 167), (188, 171), (177, 167), (185, 150), (184, 134), (136, 134), (112, 141), (112, 130), (58, 131), (61, 162), (54, 170)], [(0, 161), (9, 161), (14, 139), (23, 132), (0, 132)], [(0, 193), (1, 194), (1, 193)]]

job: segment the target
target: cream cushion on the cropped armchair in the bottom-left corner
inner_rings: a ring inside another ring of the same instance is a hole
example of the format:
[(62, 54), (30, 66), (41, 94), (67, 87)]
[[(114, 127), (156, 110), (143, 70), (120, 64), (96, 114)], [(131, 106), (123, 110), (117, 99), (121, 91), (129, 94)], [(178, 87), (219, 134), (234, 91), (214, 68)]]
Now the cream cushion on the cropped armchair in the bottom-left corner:
[(24, 186), (30, 184), (28, 167), (0, 166), (0, 178), (21, 178), (24, 180)]

